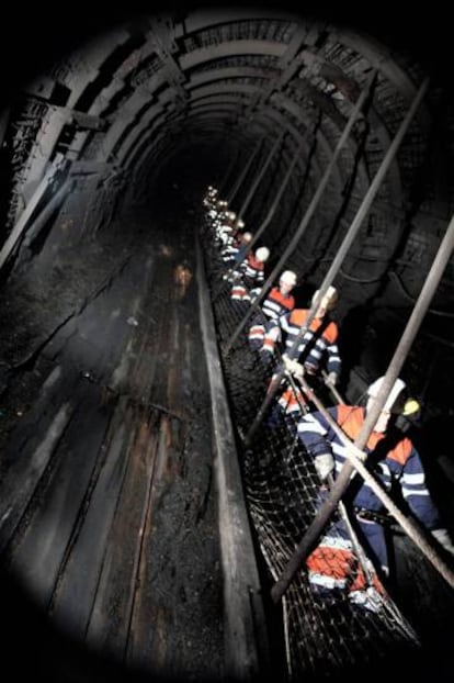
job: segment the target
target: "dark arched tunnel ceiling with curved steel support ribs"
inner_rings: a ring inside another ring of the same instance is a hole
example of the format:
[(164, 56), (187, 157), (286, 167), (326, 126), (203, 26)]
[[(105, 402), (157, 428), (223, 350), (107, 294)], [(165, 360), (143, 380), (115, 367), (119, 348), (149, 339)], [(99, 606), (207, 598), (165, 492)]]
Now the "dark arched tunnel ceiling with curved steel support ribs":
[[(38, 74), (25, 87), (27, 97), (46, 109), (46, 121), (39, 131), (44, 153), (29, 163), (22, 184), (35, 182), (58, 153), (72, 161), (113, 164), (145, 178), (183, 147), (208, 145), (218, 150), (220, 142), (228, 139), (219, 157), (224, 161), (235, 149), (252, 147), (258, 136), (271, 138), (276, 131), (285, 131), (288, 148), (293, 148), (318, 117), (316, 157), (324, 168), (375, 68), (378, 77), (368, 113), (373, 134), (360, 161), (361, 192), (417, 87), (433, 66), (424, 64), (421, 44), (417, 57), (408, 53), (408, 36), (400, 36), (404, 51), (399, 54), (374, 35), (388, 31), (396, 43), (404, 22), (396, 18), (387, 22), (384, 16), (371, 18), (371, 22), (364, 14), (349, 11), (348, 4), (338, 14), (326, 12), (322, 4), (317, 9), (308, 5), (307, 16), (271, 4), (196, 11), (179, 8), (162, 14), (132, 15), (123, 8), (110, 18), (109, 30), (107, 20), (97, 16), (92, 33), (94, 36), (104, 27), (101, 36), (66, 56), (58, 55), (59, 60), (46, 68), (46, 76)], [(75, 44), (82, 35), (78, 21)], [(418, 20), (415, 24), (413, 18), (415, 25), (418, 27)], [(50, 33), (49, 26), (46, 30)], [(65, 32), (52, 35), (55, 58)], [(37, 34), (33, 37), (36, 41)], [(418, 31), (413, 41), (418, 41)], [(411, 41), (410, 46), (415, 47)], [(50, 51), (44, 59), (50, 60)], [(427, 153), (434, 116), (428, 104), (436, 109), (440, 99), (435, 83), (381, 190), (381, 198), (396, 210), (408, 200), (415, 169)], [(341, 155), (338, 187), (349, 176), (356, 139), (352, 136)], [(451, 165), (449, 158), (444, 161)], [(431, 188), (439, 201), (438, 209), (431, 209), (441, 215), (451, 203), (444, 180), (441, 172)]]

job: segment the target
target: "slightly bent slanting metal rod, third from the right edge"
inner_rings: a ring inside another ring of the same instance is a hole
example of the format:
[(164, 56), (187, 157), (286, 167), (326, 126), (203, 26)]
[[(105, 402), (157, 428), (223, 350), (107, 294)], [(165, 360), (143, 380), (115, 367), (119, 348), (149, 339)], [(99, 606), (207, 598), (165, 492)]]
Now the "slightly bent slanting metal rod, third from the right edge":
[(270, 276), (266, 278), (265, 282), (263, 283), (263, 287), (259, 293), (259, 295), (257, 296), (257, 299), (254, 300), (253, 304), (249, 307), (247, 314), (245, 315), (245, 317), (242, 318), (242, 321), (240, 322), (240, 324), (237, 326), (237, 328), (235, 329), (235, 332), (232, 333), (230, 339), (227, 342), (225, 348), (224, 348), (224, 355), (227, 356), (231, 349), (231, 347), (234, 346), (235, 342), (238, 339), (240, 333), (242, 332), (242, 329), (245, 328), (247, 322), (250, 320), (252, 313), (259, 307), (259, 305), (261, 304), (261, 302), (263, 301), (264, 296), (266, 295), (268, 289), (270, 287), (270, 284), (272, 284), (272, 282), (274, 282), (274, 280), (276, 279), (277, 275), (281, 272), (281, 269), (283, 267), (283, 265), (285, 265), (285, 262), (287, 261), (288, 257), (291, 256), (291, 254), (293, 254), (293, 251), (296, 249), (307, 225), (309, 224), (310, 219), (313, 217), (320, 200), (321, 200), (321, 195), (325, 191), (325, 188), (327, 187), (329, 179), (331, 177), (332, 171), (334, 170), (338, 157), (343, 148), (343, 146), (347, 144), (347, 141), (349, 139), (349, 135), (351, 133), (351, 130), (353, 127), (354, 122), (356, 121), (357, 116), (361, 113), (361, 110), (363, 108), (363, 104), (367, 98), (370, 88), (375, 79), (375, 75), (376, 71), (374, 70), (373, 74), (371, 75), (366, 87), (364, 88), (364, 90), (362, 91), (362, 93), (360, 94), (360, 97), (356, 100), (356, 103), (354, 105), (354, 108), (352, 109), (349, 120), (345, 124), (345, 127), (342, 132), (341, 137), (339, 138), (339, 142), (336, 146), (334, 153), (331, 157), (330, 163), (328, 164), (325, 173), (318, 184), (318, 188), (313, 197), (313, 200), (309, 204), (309, 206), (306, 210), (306, 213), (303, 216), (303, 220), (298, 226), (298, 228), (296, 229), (293, 238), (291, 239), (290, 244), (287, 245), (286, 249), (284, 250), (283, 255), (281, 256), (281, 258), (279, 259), (276, 266), (273, 268), (272, 272), (270, 273)]

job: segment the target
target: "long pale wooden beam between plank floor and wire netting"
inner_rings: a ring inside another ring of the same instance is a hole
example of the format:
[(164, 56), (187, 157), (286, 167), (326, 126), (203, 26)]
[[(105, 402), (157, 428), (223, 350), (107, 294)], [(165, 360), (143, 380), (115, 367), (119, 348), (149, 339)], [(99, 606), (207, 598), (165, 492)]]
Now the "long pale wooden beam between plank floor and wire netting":
[(212, 393), (218, 518), (224, 573), (226, 678), (262, 680), (269, 643), (260, 579), (243, 497), (238, 454), (216, 342), (212, 304), (197, 244), (201, 326)]

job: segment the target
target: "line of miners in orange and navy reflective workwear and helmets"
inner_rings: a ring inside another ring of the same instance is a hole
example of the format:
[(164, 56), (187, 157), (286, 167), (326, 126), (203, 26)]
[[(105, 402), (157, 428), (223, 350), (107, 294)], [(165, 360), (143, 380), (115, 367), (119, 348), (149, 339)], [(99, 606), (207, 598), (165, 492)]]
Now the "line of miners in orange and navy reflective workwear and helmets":
[[(216, 188), (207, 188), (203, 204), (205, 227), (225, 266), (223, 280), (229, 288), (231, 304), (246, 314), (262, 292), (270, 249), (263, 245), (254, 248), (253, 234), (245, 231), (245, 222), (229, 211)], [(348, 458), (345, 439), (336, 427), (354, 443), (385, 378), (376, 379), (365, 390), (360, 405), (340, 400), (339, 328), (332, 317), (339, 292), (332, 285), (325, 293), (316, 290), (310, 306), (296, 307), (293, 292), (298, 284), (302, 282), (298, 283), (295, 271), (283, 270), (252, 312), (246, 334), (257, 362), (263, 363), (271, 379), (282, 370), (266, 424), (272, 427), (285, 422), (295, 432), (302, 450), (315, 466), (321, 506)], [(311, 392), (317, 393), (321, 387), (331, 392), (336, 404), (316, 410)], [(435, 538), (435, 549), (451, 561), (454, 556), (451, 536), (428, 490), (420, 454), (407, 435), (408, 419), (419, 410), (406, 383), (396, 379), (363, 452), (367, 469), (382, 488), (387, 492), (399, 490), (410, 514), (429, 533), (429, 540), (431, 536)], [(367, 481), (357, 474), (352, 478), (343, 502), (349, 519), (337, 516), (327, 527), (306, 560), (307, 576), (318, 593), (343, 591), (350, 602), (375, 609), (379, 604), (377, 594), (383, 591), (382, 579), (389, 575), (386, 537), (389, 515)], [(355, 537), (352, 537), (352, 525)], [(357, 539), (366, 551), (366, 566), (355, 552)]]

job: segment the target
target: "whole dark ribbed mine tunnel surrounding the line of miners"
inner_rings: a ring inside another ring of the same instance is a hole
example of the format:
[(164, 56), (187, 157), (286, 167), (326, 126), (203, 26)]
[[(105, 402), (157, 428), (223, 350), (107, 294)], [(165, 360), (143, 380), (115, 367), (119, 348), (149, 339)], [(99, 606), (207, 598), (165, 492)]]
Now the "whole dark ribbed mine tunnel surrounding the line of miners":
[[(1, 618), (16, 676), (362, 681), (400, 663), (452, 680), (452, 556), (399, 517), (376, 609), (314, 591), (304, 560), (273, 600), (319, 489), (295, 425), (270, 421), (272, 369), (248, 344), (283, 270), (297, 307), (339, 292), (342, 369), (320, 410), (399, 374), (454, 536), (446, 31), (428, 51), (425, 18), (412, 35), (306, 4), (125, 7), (58, 31), (31, 10), (36, 59), (14, 76), (2, 54)], [(216, 242), (228, 212), (250, 254), (269, 251), (241, 305)]]

